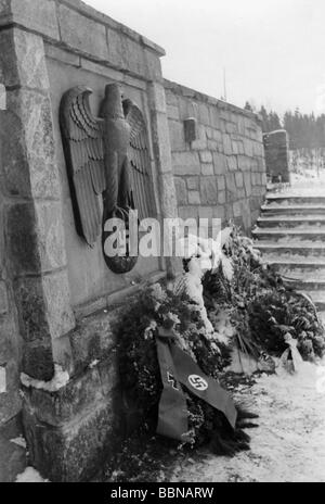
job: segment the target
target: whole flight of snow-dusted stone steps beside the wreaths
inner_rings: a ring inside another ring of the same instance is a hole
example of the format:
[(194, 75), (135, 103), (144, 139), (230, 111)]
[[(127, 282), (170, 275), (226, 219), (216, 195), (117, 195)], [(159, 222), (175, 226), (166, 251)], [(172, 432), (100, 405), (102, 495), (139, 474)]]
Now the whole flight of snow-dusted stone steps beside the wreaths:
[(268, 194), (252, 236), (263, 261), (325, 312), (325, 190), (324, 197)]

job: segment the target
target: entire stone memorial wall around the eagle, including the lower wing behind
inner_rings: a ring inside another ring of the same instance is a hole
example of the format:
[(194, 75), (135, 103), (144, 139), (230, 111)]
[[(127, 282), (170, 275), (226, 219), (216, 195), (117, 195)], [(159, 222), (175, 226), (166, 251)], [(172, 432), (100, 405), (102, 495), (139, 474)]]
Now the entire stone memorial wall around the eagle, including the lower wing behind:
[[(91, 249), (78, 237), (60, 100), (89, 86), (96, 114), (105, 85), (119, 83), (136, 102), (159, 219), (179, 211), (234, 217), (249, 229), (265, 187), (260, 126), (245, 111), (164, 81), (158, 46), (79, 0), (1, 0), (0, 47), (0, 429), (23, 398), (30, 464), (51, 481), (84, 481), (128, 429), (116, 360), (120, 311), (178, 263), (140, 260), (117, 276), (100, 240)], [(191, 146), (188, 116), (199, 130)], [(58, 389), (50, 387), (55, 369), (68, 376)]]

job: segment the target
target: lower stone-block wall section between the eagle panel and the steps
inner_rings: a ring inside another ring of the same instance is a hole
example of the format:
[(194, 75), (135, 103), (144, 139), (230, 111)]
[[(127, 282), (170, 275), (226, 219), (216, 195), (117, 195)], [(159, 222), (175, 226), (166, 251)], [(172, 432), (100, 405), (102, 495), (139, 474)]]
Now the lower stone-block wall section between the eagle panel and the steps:
[(165, 89), (179, 215), (233, 219), (249, 232), (266, 187), (258, 116), (168, 80)]

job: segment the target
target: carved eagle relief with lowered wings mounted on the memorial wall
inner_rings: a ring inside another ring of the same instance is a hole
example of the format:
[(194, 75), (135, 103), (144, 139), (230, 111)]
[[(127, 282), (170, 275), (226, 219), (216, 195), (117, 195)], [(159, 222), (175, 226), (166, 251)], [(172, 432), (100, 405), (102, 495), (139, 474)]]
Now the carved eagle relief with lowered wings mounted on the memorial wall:
[[(91, 94), (84, 86), (69, 89), (62, 98), (60, 122), (76, 228), (93, 247), (108, 218), (128, 224), (130, 210), (138, 210), (142, 219), (153, 215), (153, 205), (148, 135), (141, 110), (122, 100), (119, 85), (109, 84), (95, 117)], [(115, 273), (126, 273), (136, 263), (129, 256), (105, 261)]]

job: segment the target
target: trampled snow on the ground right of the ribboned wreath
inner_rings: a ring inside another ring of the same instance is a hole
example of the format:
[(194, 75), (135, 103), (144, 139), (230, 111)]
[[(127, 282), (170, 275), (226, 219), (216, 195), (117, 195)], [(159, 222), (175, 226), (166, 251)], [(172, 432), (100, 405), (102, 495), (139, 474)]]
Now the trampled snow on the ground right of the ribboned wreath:
[(249, 429), (251, 451), (233, 458), (202, 453), (171, 481), (325, 482), (325, 361), (303, 363), (295, 376), (263, 376), (235, 398), (260, 415)]

